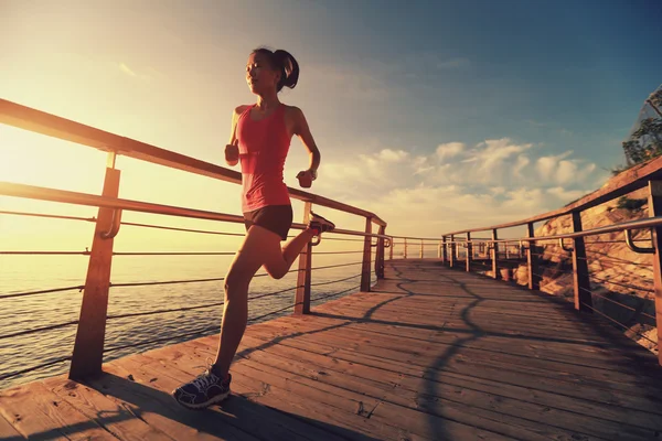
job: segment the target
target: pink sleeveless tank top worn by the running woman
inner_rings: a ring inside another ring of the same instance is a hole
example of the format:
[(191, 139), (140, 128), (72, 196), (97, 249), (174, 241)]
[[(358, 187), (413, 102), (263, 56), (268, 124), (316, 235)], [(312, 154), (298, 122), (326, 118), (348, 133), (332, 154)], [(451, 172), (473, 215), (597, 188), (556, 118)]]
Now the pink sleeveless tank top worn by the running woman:
[(239, 162), (242, 164), (242, 212), (267, 205), (289, 205), (290, 198), (282, 171), (290, 137), (285, 125), (285, 105), (269, 116), (254, 121), (250, 106), (237, 121)]

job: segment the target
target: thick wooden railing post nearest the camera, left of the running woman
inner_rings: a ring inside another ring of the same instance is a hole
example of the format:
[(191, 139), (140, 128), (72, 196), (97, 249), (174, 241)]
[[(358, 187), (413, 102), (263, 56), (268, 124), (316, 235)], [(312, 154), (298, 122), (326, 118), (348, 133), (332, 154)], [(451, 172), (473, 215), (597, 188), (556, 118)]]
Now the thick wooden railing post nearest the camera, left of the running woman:
[[(106, 178), (102, 192), (105, 197), (117, 197), (119, 194), (120, 171), (115, 169), (115, 152), (108, 153)], [(76, 341), (68, 373), (70, 379), (83, 379), (102, 373), (110, 267), (113, 265), (113, 243), (115, 240), (113, 237), (104, 238), (104, 235), (110, 230), (114, 215), (115, 211), (113, 208), (98, 209), (76, 330)]]

